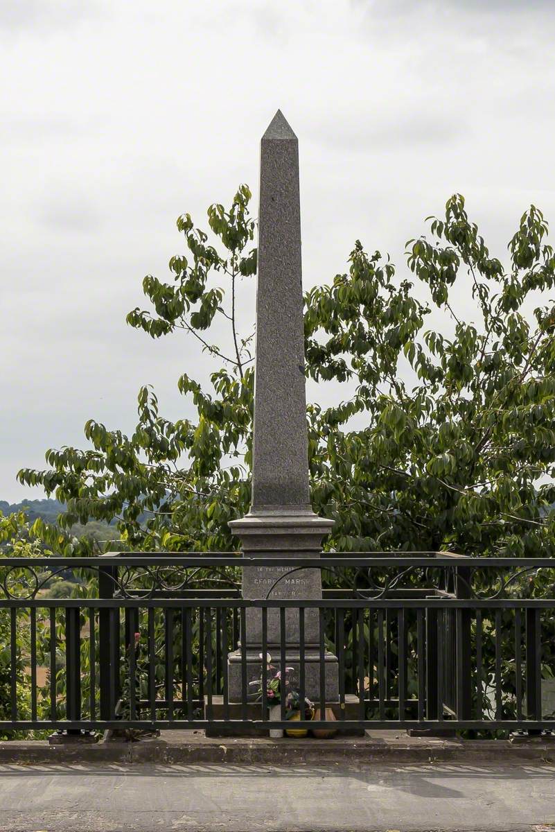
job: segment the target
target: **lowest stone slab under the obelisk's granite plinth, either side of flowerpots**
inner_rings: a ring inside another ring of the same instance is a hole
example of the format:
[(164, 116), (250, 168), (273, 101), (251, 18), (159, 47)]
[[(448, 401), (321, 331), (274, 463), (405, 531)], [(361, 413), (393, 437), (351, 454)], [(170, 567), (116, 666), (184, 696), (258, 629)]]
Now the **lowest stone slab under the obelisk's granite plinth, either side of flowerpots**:
[[(318, 702), (314, 703), (316, 707)], [(339, 702), (326, 702), (327, 708), (332, 708), (335, 722), (330, 723), (330, 727), (337, 729), (338, 736), (364, 736), (364, 728), (344, 728), (341, 730), (341, 706)], [(204, 699), (204, 708), (206, 709), (206, 698)], [(345, 708), (343, 714), (346, 720), (357, 720), (360, 716), (360, 705), (358, 696), (347, 693), (345, 695)], [(262, 715), (262, 706), (260, 702), (249, 702), (247, 706), (247, 719), (259, 720)], [(212, 697), (212, 711), (211, 718), (213, 720), (242, 720), (243, 706), (239, 702), (228, 703), (228, 713), (226, 714), (223, 707), (223, 696)], [(268, 728), (258, 728), (255, 726), (219, 726), (211, 725), (206, 729), (207, 736), (268, 736), (271, 723), (268, 722)], [(308, 741), (311, 741), (310, 738)]]

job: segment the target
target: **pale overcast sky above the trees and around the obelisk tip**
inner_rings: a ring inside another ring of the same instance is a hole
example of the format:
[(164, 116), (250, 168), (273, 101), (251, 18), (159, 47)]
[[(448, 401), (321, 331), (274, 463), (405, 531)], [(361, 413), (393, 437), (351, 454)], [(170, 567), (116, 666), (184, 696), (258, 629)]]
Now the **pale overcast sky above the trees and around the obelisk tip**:
[(17, 469), (83, 447), (86, 419), (132, 429), (140, 384), (191, 413), (176, 382), (208, 359), (125, 314), (182, 250), (179, 214), (206, 225), (240, 182), (256, 206), (278, 106), (306, 286), (356, 238), (403, 270), (454, 191), (503, 258), (531, 202), (555, 222), (553, 42), (553, 0), (0, 0), (0, 499), (42, 496)]

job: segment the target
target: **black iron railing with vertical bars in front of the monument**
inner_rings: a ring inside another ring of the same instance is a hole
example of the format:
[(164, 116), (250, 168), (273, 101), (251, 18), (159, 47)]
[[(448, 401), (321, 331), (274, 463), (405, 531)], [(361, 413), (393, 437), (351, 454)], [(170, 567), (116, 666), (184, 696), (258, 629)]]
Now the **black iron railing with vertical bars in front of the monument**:
[[(243, 566), (319, 569), (322, 600), (274, 600), (272, 587), (266, 599), (243, 600)], [(55, 597), (56, 582), (70, 573), (78, 597)], [(297, 728), (329, 726), (326, 706), (342, 730), (555, 728), (554, 582), (547, 558), (433, 552), (317, 561), (154, 553), (2, 558), (0, 633), (8, 636), (0, 644), (0, 731), (268, 730), (266, 683), (292, 661), (292, 615), (301, 640), (291, 685), (301, 701), (310, 694), (322, 714)], [(252, 644), (249, 610), (261, 622)], [(307, 678), (302, 638), (314, 616), (316, 682)], [(279, 622), (277, 641), (268, 617)], [(253, 651), (269, 652), (273, 669), (253, 662)], [(229, 690), (233, 652), (238, 696)], [(337, 675), (333, 701), (326, 699), (328, 672)], [(259, 697), (251, 685), (257, 675)], [(280, 716), (272, 727), (291, 726), (284, 705)]]

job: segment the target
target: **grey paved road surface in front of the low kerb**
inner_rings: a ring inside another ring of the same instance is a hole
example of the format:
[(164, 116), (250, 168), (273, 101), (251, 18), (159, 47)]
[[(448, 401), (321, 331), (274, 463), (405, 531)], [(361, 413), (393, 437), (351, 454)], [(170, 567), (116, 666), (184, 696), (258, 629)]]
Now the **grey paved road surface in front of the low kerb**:
[(555, 828), (555, 766), (0, 766), (2, 832)]

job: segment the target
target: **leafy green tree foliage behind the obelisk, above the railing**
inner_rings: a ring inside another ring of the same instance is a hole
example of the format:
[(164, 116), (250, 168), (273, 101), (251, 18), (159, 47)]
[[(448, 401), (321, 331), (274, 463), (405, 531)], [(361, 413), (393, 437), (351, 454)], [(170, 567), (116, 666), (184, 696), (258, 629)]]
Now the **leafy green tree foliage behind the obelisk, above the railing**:
[[(169, 261), (172, 279), (145, 277), (150, 310), (127, 318), (152, 338), (180, 329), (214, 358), (210, 389), (189, 368), (179, 379), (195, 418), (163, 418), (145, 387), (132, 435), (91, 420), (92, 448), (49, 450), (47, 470), (19, 472), (21, 483), (67, 503), (62, 528), (117, 518), (124, 547), (236, 547), (228, 521), (246, 513), (250, 497), (253, 333), (238, 332), (235, 314), (238, 280), (256, 271), (249, 199), (242, 186), (228, 210), (209, 208), (212, 241), (188, 214), (179, 217), (185, 253)], [(336, 521), (327, 547), (552, 554), (548, 225), (534, 206), (526, 211), (505, 267), (462, 196), (449, 199), (442, 219), (428, 219), (428, 235), (407, 244), (410, 280), (357, 241), (346, 273), (305, 295), (307, 374), (345, 383), (347, 393), (333, 407), (307, 408), (312, 503)], [(427, 303), (417, 300), (421, 287)], [(462, 293), (474, 299), (469, 320)], [(442, 331), (427, 326), (433, 310)], [(228, 337), (214, 343), (217, 320)]]

